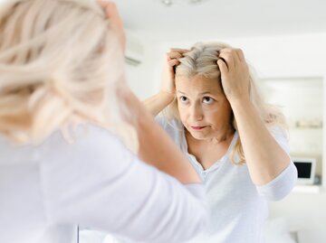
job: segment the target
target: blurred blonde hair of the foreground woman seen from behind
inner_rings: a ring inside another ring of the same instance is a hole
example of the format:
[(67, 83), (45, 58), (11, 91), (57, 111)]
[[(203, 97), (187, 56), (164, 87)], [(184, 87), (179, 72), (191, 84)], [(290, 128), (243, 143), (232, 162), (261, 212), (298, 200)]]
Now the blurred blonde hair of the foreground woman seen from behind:
[(91, 122), (138, 138), (120, 98), (123, 53), (93, 0), (14, 0), (0, 10), (0, 132), (40, 143), (54, 130)]

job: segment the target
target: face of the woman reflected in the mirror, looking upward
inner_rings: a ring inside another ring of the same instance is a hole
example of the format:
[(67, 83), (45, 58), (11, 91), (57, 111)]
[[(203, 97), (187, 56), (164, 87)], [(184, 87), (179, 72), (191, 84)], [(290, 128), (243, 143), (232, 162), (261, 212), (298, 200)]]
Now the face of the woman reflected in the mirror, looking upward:
[(177, 77), (176, 91), (178, 112), (191, 136), (200, 140), (225, 136), (232, 109), (216, 79)]

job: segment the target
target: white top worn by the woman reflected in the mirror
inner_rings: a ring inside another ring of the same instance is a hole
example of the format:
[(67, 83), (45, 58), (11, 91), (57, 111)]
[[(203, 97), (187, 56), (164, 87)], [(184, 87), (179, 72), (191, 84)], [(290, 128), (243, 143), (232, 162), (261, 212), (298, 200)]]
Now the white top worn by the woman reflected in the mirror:
[[(264, 186), (255, 186), (246, 165), (231, 163), (232, 151), (238, 134), (226, 154), (208, 169), (197, 162), (194, 155), (187, 152), (184, 126), (180, 121), (156, 120), (175, 141), (187, 159), (201, 176), (209, 204), (210, 220), (200, 237), (191, 243), (262, 243), (264, 242), (264, 221), (268, 216), (268, 201), (281, 200), (292, 191), (297, 179), (296, 167), (291, 163), (283, 173)], [(271, 133), (275, 140), (289, 154), (288, 141), (279, 127)]]

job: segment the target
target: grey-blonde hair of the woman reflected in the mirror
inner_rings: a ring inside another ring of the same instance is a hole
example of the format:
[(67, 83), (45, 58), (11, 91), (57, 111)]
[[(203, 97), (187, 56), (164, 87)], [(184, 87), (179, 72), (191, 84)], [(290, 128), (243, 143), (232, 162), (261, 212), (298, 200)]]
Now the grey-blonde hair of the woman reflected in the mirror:
[[(196, 43), (190, 51), (184, 54), (180, 59), (180, 64), (176, 68), (176, 79), (179, 77), (192, 78), (196, 75), (206, 79), (217, 79), (221, 89), (221, 72), (216, 61), (218, 60), (218, 51), (231, 46), (221, 42)], [(252, 70), (250, 70), (249, 93), (254, 107), (266, 126), (281, 126), (286, 129), (285, 117), (275, 106), (265, 103), (261, 91), (257, 87), (257, 79)], [(180, 120), (177, 109), (177, 99), (175, 99), (165, 110), (164, 116), (170, 119)], [(237, 130), (235, 117), (232, 116), (232, 127)], [(239, 156), (239, 161), (235, 162), (235, 154)], [(231, 161), (233, 164), (245, 164), (245, 154), (240, 139), (237, 140), (233, 151), (231, 152)]]

